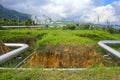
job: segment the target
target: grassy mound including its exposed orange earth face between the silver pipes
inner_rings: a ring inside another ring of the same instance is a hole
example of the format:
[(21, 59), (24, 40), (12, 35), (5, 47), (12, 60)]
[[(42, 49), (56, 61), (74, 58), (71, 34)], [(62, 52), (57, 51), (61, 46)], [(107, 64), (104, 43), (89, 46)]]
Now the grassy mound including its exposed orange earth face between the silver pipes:
[[(117, 65), (104, 59), (97, 43), (100, 40), (119, 40), (119, 34), (102, 30), (1, 30), (3, 42), (27, 43), (31, 47), (24, 58), (32, 51), (36, 54), (28, 61), (30, 67), (95, 67)], [(37, 55), (37, 56), (36, 56)], [(13, 60), (14, 62), (15, 60)], [(17, 60), (16, 60), (17, 61)], [(10, 62), (11, 64), (11, 62)], [(37, 65), (36, 65), (37, 64)]]

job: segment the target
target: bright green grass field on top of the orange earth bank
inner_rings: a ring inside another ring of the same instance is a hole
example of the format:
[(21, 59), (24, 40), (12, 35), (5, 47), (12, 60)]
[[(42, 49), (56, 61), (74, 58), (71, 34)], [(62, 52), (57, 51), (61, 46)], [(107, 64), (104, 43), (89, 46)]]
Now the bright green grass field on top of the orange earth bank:
[[(0, 39), (3, 42), (24, 42), (36, 40), (36, 48), (42, 45), (58, 44), (95, 44), (100, 40), (119, 40), (119, 34), (110, 34), (102, 30), (41, 30), (15, 29), (0, 30)], [(8, 37), (9, 36), (9, 37)]]

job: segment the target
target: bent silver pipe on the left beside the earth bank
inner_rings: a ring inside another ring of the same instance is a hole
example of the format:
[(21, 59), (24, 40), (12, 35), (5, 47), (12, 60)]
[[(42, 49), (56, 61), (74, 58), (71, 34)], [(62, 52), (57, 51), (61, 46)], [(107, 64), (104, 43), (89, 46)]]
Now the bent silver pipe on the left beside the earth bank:
[(10, 51), (6, 54), (1, 55), (0, 56), (0, 64), (10, 60), (13, 57), (16, 57), (23, 51), (27, 50), (29, 47), (27, 44), (19, 44), (19, 43), (5, 43), (5, 45), (10, 46), (10, 47), (19, 47), (19, 48), (15, 49), (13, 51)]

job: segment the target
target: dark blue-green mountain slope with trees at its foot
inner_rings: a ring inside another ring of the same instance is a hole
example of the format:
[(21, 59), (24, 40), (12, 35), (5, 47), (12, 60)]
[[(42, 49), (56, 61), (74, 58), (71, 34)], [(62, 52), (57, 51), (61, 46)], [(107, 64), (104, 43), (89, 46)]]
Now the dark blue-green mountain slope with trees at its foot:
[(34, 25), (30, 15), (4, 8), (0, 4), (0, 29), (1, 26), (28, 26)]

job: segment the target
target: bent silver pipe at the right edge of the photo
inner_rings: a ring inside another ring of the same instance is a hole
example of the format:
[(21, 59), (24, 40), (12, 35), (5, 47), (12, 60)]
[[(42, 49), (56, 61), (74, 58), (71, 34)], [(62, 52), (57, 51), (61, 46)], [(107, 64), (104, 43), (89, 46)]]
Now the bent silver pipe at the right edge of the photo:
[(120, 60), (120, 52), (107, 46), (106, 44), (120, 44), (120, 41), (116, 40), (104, 40), (104, 41), (99, 41), (98, 45), (103, 48), (104, 50), (108, 51), (110, 54), (113, 56), (117, 57), (117, 59)]

